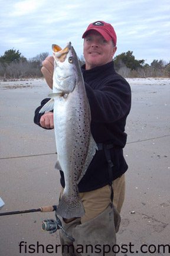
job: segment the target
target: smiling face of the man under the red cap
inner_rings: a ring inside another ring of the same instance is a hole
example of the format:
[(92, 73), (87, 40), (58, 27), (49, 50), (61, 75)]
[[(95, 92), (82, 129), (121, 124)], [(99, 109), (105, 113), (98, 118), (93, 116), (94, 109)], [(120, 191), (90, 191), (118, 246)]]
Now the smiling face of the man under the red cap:
[(86, 69), (111, 62), (116, 49), (112, 40), (106, 41), (99, 32), (91, 30), (84, 38), (83, 53), (86, 60)]

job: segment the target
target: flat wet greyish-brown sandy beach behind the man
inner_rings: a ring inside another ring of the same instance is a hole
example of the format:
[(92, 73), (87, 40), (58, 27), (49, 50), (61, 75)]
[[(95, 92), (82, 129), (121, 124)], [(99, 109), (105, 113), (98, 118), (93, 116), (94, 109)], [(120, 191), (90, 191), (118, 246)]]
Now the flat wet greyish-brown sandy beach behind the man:
[[(127, 80), (132, 88), (124, 149), (129, 169), (117, 255), (168, 256), (170, 79)], [(54, 131), (33, 122), (34, 110), (50, 88), (44, 79), (0, 81), (0, 92), (0, 197), (5, 201), (1, 212), (57, 204), (60, 175), (54, 169)], [(0, 216), (0, 255), (61, 255), (60, 246), (51, 253), (52, 247), (60, 245), (58, 232), (50, 235), (41, 230), (42, 220), (50, 218), (54, 219), (53, 212)], [(34, 252), (37, 243), (42, 246)], [(48, 251), (43, 252), (43, 247)]]

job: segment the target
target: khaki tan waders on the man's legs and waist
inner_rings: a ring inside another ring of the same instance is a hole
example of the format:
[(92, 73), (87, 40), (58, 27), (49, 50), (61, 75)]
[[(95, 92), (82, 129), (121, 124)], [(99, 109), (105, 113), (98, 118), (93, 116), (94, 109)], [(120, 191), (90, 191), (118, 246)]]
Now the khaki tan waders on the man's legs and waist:
[(116, 255), (114, 245), (120, 225), (119, 213), (125, 198), (125, 174), (113, 181), (113, 191), (113, 204), (110, 203), (109, 185), (80, 193), (85, 215), (71, 221), (61, 219), (63, 228), (75, 239), (72, 242), (60, 230), (62, 255)]

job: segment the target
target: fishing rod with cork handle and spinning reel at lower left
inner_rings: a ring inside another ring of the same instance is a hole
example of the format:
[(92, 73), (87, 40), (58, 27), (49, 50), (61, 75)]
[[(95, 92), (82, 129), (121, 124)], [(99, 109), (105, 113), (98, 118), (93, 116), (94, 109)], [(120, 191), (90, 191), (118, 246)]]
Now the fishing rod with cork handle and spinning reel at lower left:
[[(5, 205), (4, 201), (0, 197), (0, 209)], [(49, 231), (50, 233), (56, 232), (58, 229), (61, 229), (64, 234), (67, 236), (68, 239), (70, 239), (72, 242), (74, 242), (74, 238), (64, 230), (61, 220), (57, 216), (57, 206), (42, 206), (38, 209), (30, 209), (30, 210), (18, 210), (14, 212), (4, 212), (0, 213), (0, 216), (6, 216), (6, 215), (17, 215), (22, 213), (32, 213), (32, 212), (54, 212), (55, 211), (55, 219), (45, 219), (42, 220), (42, 230), (43, 231)]]

